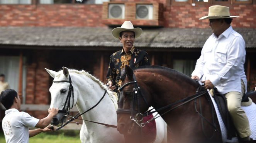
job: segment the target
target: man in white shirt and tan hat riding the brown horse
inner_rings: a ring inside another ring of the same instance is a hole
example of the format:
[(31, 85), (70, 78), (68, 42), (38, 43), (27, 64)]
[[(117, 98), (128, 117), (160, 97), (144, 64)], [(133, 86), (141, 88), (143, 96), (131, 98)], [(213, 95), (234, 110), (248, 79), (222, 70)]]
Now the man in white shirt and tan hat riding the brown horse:
[[(248, 118), (241, 109), (242, 96), (246, 92), (247, 80), (244, 73), (245, 42), (230, 25), (232, 18), (229, 7), (215, 5), (209, 7), (209, 26), (213, 34), (203, 45), (192, 79), (205, 84), (205, 89), (216, 87), (227, 98), (227, 106), (243, 143), (249, 142), (251, 131)], [(200, 78), (199, 78), (200, 77)]]

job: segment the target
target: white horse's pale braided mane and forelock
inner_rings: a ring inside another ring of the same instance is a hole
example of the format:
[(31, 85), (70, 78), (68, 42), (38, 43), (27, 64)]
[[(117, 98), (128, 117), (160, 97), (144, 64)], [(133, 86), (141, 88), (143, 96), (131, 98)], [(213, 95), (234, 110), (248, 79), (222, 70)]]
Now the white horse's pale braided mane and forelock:
[[(78, 74), (84, 74), (87, 77), (91, 78), (93, 81), (95, 81), (96, 83), (98, 83), (98, 85), (100, 85), (100, 87), (104, 90), (107, 90), (107, 93), (110, 97), (110, 99), (114, 102), (115, 108), (117, 109), (117, 100), (118, 97), (117, 95), (114, 94), (114, 92), (112, 92), (108, 86), (104, 85), (98, 78), (96, 78), (95, 76), (91, 75), (89, 72), (85, 71), (85, 70), (75, 70), (75, 69), (68, 69), (70, 73), (78, 73)], [(60, 70), (59, 75), (63, 74), (63, 70)], [(115, 98), (115, 99), (114, 99)]]

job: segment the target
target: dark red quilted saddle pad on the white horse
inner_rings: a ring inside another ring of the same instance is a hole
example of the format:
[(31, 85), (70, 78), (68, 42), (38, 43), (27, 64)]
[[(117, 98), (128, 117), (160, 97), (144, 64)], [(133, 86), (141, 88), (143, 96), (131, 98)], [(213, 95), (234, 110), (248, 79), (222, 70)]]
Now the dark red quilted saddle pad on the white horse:
[[(146, 121), (152, 119), (154, 116), (148, 115), (143, 118), (142, 123), (145, 123)], [(149, 123), (147, 123), (142, 128), (142, 142), (143, 143), (153, 143), (156, 140), (156, 121), (153, 120)]]

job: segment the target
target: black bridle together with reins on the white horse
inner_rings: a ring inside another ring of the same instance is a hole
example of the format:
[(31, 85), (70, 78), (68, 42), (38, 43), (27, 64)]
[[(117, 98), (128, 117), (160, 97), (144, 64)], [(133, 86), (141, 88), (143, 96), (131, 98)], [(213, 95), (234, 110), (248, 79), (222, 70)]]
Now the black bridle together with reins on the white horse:
[[(67, 96), (67, 98), (66, 98), (66, 101), (65, 101), (63, 110), (59, 110), (58, 113), (66, 113), (66, 115), (64, 115), (64, 116), (65, 116), (67, 119), (68, 119), (68, 118), (71, 118), (71, 119), (70, 119), (70, 120), (66, 120), (66, 123), (65, 123), (64, 125), (60, 126), (60, 127), (59, 127), (58, 129), (56, 129), (55, 131), (60, 130), (61, 128), (63, 128), (64, 126), (66, 126), (66, 125), (67, 125), (68, 123), (70, 123), (70, 122), (75, 122), (75, 121), (73, 121), (73, 120), (75, 120), (75, 119), (83, 120), (83, 119), (79, 119), (78, 117), (81, 116), (81, 115), (83, 115), (83, 114), (85, 114), (86, 112), (92, 110), (93, 108), (95, 108), (95, 107), (100, 103), (100, 101), (102, 101), (102, 99), (105, 97), (105, 95), (106, 95), (106, 93), (107, 93), (107, 90), (105, 90), (105, 93), (104, 93), (104, 95), (102, 96), (102, 98), (101, 98), (94, 106), (92, 106), (90, 109), (86, 110), (85, 112), (81, 113), (80, 115), (79, 115), (79, 112), (78, 112), (78, 113), (76, 113), (75, 116), (68, 116), (68, 115), (70, 115), (70, 109), (72, 109), (73, 106), (74, 106), (74, 88), (73, 88), (73, 86), (72, 86), (71, 77), (70, 77), (70, 75), (69, 75), (69, 81), (68, 81), (68, 80), (60, 80), (60, 81), (53, 81), (53, 82), (68, 82), (68, 83), (70, 83), (70, 87), (69, 87), (69, 91), (68, 91), (68, 96)], [(70, 108), (71, 92), (72, 92), (72, 95), (73, 95), (73, 105), (72, 105), (72, 107)], [(68, 103), (68, 110), (65, 110), (66, 103)], [(88, 120), (84, 120), (84, 121), (88, 121)], [(105, 125), (105, 126), (112, 127), (112, 128), (117, 128), (117, 126), (115, 126), (115, 125), (109, 125), (109, 124), (105, 124), (105, 123), (98, 123), (98, 122), (95, 122), (95, 121), (89, 121), (89, 122), (97, 123), (97, 124), (100, 124), (100, 125)], [(82, 124), (81, 122), (75, 122), (75, 123), (76, 123), (76, 124)]]

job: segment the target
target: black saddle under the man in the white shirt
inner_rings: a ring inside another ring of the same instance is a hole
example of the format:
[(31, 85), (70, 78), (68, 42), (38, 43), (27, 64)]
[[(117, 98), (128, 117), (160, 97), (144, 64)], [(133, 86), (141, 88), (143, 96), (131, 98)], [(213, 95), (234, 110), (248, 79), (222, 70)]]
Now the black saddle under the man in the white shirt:
[[(242, 102), (248, 102), (249, 96), (252, 96), (255, 93), (256, 92), (247, 92), (246, 94), (244, 94), (244, 96), (242, 97)], [(225, 98), (224, 95), (219, 93), (217, 88), (213, 88), (213, 94), (213, 98), (217, 103), (224, 125), (227, 128), (228, 136), (231, 138), (236, 137), (236, 128), (234, 127), (234, 124), (231, 120), (231, 116), (229, 115), (229, 110), (227, 108), (227, 99)]]

